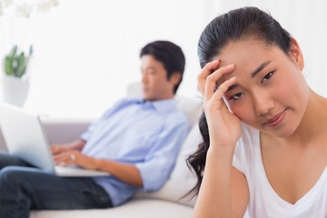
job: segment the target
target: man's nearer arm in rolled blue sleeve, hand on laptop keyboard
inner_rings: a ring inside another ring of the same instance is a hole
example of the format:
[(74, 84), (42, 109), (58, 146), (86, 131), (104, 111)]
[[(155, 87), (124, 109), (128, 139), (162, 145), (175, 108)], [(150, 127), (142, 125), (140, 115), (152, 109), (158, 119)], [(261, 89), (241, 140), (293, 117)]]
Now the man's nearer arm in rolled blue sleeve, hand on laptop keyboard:
[[(145, 190), (156, 190), (162, 186), (173, 170), (173, 165), (190, 129), (189, 124), (168, 124), (158, 135), (143, 163), (121, 163), (96, 159), (80, 151), (67, 151), (54, 157), (56, 164), (78, 164), (86, 169), (111, 173), (124, 183)], [(74, 158), (72, 158), (74, 156)]]

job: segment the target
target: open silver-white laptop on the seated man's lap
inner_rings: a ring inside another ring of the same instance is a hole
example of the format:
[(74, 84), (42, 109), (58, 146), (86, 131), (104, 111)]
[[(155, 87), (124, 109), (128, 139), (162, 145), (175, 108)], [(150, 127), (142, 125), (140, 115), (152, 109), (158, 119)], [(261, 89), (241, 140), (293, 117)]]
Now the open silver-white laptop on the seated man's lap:
[(50, 144), (38, 114), (27, 113), (12, 104), (0, 103), (0, 127), (9, 154), (35, 165), (46, 173), (75, 177), (110, 175), (77, 166), (54, 165)]

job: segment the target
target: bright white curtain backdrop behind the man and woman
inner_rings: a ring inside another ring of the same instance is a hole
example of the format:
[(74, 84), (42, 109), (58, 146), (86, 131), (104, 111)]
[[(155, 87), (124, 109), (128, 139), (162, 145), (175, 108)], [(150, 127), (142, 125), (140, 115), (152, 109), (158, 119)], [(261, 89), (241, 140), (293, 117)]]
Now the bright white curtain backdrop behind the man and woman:
[[(35, 53), (25, 108), (53, 117), (98, 117), (140, 78), (139, 52), (162, 39), (186, 56), (178, 94), (196, 96), (197, 41), (205, 25), (227, 10), (256, 5), (298, 39), (312, 89), (327, 96), (326, 1), (60, 0), (31, 16)], [(0, 35), (1, 40), (1, 35)]]

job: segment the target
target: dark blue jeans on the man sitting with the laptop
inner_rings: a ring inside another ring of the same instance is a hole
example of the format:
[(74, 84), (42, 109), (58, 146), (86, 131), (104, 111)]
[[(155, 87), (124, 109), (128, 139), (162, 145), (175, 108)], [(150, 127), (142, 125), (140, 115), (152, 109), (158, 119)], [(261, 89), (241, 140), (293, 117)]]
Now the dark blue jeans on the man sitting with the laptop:
[(112, 207), (91, 178), (59, 177), (0, 153), (0, 217), (28, 218), (30, 210)]

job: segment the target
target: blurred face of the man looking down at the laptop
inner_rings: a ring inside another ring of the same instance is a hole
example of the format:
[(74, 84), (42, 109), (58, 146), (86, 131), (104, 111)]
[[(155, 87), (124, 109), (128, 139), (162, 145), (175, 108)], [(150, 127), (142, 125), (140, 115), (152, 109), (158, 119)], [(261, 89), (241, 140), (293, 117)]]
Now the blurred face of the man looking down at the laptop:
[(173, 76), (168, 80), (163, 64), (154, 59), (153, 55), (141, 57), (141, 72), (144, 100), (157, 101), (173, 98)]

